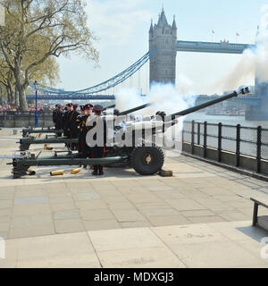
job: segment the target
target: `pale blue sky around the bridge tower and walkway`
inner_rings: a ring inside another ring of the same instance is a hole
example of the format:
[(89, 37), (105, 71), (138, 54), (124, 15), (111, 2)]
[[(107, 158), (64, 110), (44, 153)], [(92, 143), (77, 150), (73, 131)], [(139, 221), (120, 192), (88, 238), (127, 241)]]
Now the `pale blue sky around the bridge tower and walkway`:
[[(59, 59), (61, 82), (58, 88), (87, 88), (127, 68), (148, 50), (150, 21), (158, 20), (162, 6), (169, 23), (176, 16), (178, 39), (253, 44), (261, 7), (268, 0), (87, 0), (88, 26), (99, 38), (99, 67), (75, 55)], [(212, 34), (214, 30), (215, 34)], [(236, 38), (236, 32), (239, 37)], [(239, 55), (178, 53), (177, 74), (193, 82), (197, 93), (221, 80), (239, 62)], [(138, 76), (141, 80), (138, 80)], [(125, 87), (141, 81), (147, 88), (148, 67)], [(253, 84), (251, 78), (245, 84)], [(116, 90), (115, 90), (116, 91)]]

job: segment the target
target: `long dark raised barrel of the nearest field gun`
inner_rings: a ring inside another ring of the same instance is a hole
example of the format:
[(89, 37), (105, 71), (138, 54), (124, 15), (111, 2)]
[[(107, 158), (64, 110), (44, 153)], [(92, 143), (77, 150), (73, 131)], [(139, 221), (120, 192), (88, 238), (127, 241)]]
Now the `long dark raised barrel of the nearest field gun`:
[(232, 97), (239, 97), (239, 95), (244, 95), (244, 94), (247, 94), (247, 93), (249, 93), (249, 88), (247, 88), (247, 87), (246, 88), (239, 88), (238, 90), (234, 91), (230, 95), (227, 95), (227, 96), (224, 96), (224, 97), (219, 97), (217, 99), (205, 102), (205, 104), (197, 105), (197, 106), (194, 106), (194, 107), (182, 110), (179, 113), (172, 114), (171, 115), (172, 116), (172, 120), (175, 119), (176, 116), (184, 116), (184, 115), (192, 114), (192, 113), (194, 113), (194, 112), (196, 112), (196, 111), (198, 111), (200, 109), (203, 109), (205, 107), (208, 107), (210, 105), (215, 105), (215, 104), (218, 104), (218, 103), (220, 103), (220, 102), (222, 102), (224, 100), (230, 99)]

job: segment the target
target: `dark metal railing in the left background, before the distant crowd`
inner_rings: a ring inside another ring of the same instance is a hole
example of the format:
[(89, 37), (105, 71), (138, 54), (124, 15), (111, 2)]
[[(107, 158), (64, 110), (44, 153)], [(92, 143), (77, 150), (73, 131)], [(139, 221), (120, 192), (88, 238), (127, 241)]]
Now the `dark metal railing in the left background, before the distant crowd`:
[[(40, 127), (45, 127), (47, 123), (52, 122), (52, 112), (38, 111), (38, 123)], [(21, 112), (21, 111), (7, 111), (0, 113), (0, 124), (12, 124), (13, 127), (18, 127), (21, 123), (25, 126), (35, 125), (35, 111)]]

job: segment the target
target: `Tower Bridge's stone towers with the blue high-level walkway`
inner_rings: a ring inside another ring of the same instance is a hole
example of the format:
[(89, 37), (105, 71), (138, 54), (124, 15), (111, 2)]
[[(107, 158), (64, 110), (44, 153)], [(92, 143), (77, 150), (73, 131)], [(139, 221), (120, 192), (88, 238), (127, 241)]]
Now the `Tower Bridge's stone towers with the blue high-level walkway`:
[[(247, 49), (255, 49), (255, 45), (234, 44), (229, 41), (202, 42), (184, 41), (177, 39), (177, 25), (175, 17), (170, 25), (162, 9), (157, 24), (149, 29), (149, 51), (156, 50), (155, 55), (150, 59), (150, 83), (156, 82), (176, 82), (176, 56), (177, 52), (192, 53), (217, 53), (241, 55)], [(255, 94), (243, 99), (247, 103), (247, 120), (267, 120), (268, 121), (268, 85), (259, 84), (255, 80)]]

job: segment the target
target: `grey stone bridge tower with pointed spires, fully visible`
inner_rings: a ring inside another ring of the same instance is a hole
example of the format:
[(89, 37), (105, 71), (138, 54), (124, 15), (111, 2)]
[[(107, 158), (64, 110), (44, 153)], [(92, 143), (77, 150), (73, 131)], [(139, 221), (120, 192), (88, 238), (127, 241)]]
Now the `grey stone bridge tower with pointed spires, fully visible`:
[(177, 26), (174, 20), (172, 26), (168, 24), (164, 11), (159, 15), (158, 23), (149, 30), (149, 51), (156, 48), (155, 54), (150, 58), (150, 84), (152, 82), (172, 82), (176, 80), (177, 55)]

